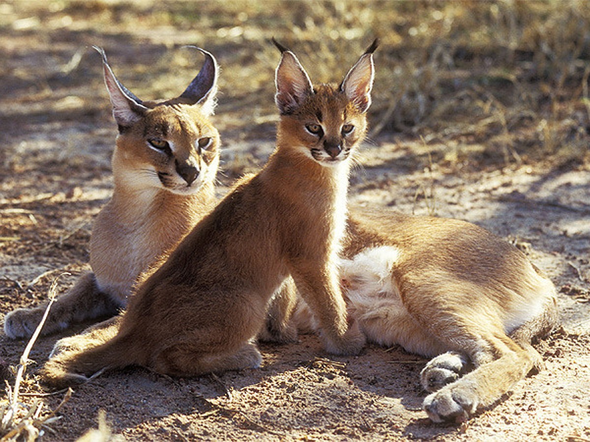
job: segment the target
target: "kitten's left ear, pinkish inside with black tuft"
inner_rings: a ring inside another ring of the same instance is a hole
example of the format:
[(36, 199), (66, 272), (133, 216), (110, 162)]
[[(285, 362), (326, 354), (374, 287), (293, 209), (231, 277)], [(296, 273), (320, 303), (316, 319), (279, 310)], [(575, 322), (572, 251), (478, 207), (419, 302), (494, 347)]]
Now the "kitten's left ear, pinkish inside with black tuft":
[(313, 94), (313, 86), (309, 80), (309, 75), (307, 75), (295, 54), (274, 38), (273, 43), (283, 54), (274, 77), (277, 86), (274, 101), (277, 103), (281, 115), (289, 115), (301, 105), (308, 95)]

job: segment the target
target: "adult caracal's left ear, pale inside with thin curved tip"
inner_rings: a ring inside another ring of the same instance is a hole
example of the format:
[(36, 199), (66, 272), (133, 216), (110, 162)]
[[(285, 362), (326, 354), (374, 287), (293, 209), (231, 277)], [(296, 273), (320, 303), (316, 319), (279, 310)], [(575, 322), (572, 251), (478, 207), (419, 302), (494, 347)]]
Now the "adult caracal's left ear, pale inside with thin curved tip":
[(122, 128), (129, 127), (138, 121), (148, 108), (143, 105), (142, 100), (133, 95), (129, 89), (117, 80), (107, 62), (107, 56), (103, 49), (97, 46), (93, 46), (93, 48), (99, 51), (99, 54), (103, 57), (104, 84), (107, 91), (109, 91), (110, 101), (113, 105), (114, 120), (119, 125), (119, 131), (121, 131)]

